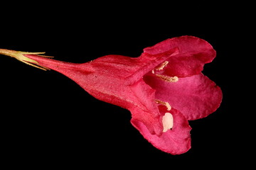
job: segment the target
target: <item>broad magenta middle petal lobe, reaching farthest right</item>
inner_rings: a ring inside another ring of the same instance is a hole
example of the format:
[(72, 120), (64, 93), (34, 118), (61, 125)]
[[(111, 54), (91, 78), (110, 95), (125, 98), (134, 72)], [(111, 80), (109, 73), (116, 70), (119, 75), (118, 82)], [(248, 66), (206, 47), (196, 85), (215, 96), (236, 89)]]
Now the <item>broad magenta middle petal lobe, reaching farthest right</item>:
[(203, 74), (179, 78), (170, 83), (156, 77), (145, 77), (146, 83), (156, 89), (156, 98), (167, 101), (188, 120), (204, 118), (213, 113), (222, 101), (219, 86)]

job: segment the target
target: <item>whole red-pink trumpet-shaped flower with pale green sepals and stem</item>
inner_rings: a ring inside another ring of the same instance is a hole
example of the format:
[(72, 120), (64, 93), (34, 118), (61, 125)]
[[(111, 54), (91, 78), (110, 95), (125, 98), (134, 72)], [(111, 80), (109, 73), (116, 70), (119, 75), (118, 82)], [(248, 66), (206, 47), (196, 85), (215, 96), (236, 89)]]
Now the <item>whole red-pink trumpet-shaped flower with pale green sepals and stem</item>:
[(127, 108), (131, 123), (152, 145), (182, 154), (191, 147), (188, 120), (213, 113), (222, 92), (201, 71), (215, 57), (213, 47), (199, 38), (182, 36), (147, 47), (140, 57), (107, 55), (73, 64), (42, 53), (0, 50), (0, 54), (41, 69), (54, 69), (73, 79), (101, 101)]

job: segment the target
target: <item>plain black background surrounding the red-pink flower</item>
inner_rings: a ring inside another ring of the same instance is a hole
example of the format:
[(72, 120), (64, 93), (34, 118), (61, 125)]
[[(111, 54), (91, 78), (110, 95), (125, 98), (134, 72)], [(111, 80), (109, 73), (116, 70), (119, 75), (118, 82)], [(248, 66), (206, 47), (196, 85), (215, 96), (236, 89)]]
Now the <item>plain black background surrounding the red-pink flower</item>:
[(223, 90), (223, 103), (207, 118), (190, 121), (192, 148), (174, 156), (144, 140), (129, 123), (129, 111), (98, 101), (62, 74), (0, 56), (1, 154), (9, 166), (245, 164), (241, 159), (252, 152), (247, 119), (253, 111), (246, 110), (251, 71), (242, 47), (250, 14), (242, 15), (242, 6), (10, 5), (1, 12), (0, 48), (46, 52), (66, 62), (110, 54), (138, 57), (144, 47), (167, 38), (203, 38), (217, 51), (203, 73)]

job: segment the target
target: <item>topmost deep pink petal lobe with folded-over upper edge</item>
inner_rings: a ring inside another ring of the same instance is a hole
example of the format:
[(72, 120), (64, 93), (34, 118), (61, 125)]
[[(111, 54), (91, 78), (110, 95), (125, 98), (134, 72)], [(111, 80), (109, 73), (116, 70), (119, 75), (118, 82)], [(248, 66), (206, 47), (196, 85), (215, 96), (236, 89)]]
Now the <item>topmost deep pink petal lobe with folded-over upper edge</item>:
[(203, 65), (211, 62), (216, 55), (215, 50), (206, 40), (193, 36), (167, 39), (152, 47), (146, 47), (144, 52), (156, 55), (175, 47), (178, 48), (178, 55), (169, 57), (167, 60), (169, 64), (161, 74), (177, 77), (199, 74), (203, 70)]

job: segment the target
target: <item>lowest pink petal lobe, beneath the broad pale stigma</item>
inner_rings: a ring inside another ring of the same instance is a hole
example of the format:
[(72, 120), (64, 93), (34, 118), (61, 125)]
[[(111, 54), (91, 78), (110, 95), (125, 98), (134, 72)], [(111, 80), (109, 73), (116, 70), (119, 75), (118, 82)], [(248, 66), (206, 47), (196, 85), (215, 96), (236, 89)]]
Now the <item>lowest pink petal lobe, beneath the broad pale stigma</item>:
[(139, 120), (132, 118), (131, 123), (154, 147), (170, 154), (183, 154), (191, 148), (191, 127), (179, 111), (171, 109), (169, 112), (174, 117), (174, 127), (163, 132), (160, 137), (152, 135)]

